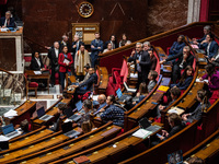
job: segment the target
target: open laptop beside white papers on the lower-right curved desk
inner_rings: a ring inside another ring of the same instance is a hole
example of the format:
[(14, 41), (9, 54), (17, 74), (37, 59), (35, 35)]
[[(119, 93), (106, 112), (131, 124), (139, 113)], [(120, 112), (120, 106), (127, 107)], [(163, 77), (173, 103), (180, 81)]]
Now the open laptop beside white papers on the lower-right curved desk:
[(148, 118), (142, 118), (138, 121), (139, 126), (145, 129), (145, 130), (148, 130), (148, 131), (151, 131), (152, 133), (160, 130), (162, 127), (160, 126), (151, 126), (150, 121), (148, 120)]

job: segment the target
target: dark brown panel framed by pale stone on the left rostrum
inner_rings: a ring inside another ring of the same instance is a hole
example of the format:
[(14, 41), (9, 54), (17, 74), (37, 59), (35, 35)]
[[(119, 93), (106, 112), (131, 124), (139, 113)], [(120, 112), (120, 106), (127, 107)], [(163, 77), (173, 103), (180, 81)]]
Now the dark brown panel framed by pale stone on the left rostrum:
[(15, 38), (0, 38), (0, 68), (16, 70)]

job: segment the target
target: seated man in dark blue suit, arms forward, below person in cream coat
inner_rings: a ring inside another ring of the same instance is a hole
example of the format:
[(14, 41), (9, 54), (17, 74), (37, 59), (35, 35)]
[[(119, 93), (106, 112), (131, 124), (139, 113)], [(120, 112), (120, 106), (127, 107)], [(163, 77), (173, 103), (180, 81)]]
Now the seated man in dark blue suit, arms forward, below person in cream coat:
[(76, 92), (73, 97), (77, 98), (77, 96), (85, 94), (88, 91), (93, 91), (93, 85), (97, 83), (97, 75), (94, 72), (93, 68), (89, 69), (89, 79), (84, 81), (83, 83), (80, 83), (79, 85), (72, 85), (72, 87), (76, 87)]

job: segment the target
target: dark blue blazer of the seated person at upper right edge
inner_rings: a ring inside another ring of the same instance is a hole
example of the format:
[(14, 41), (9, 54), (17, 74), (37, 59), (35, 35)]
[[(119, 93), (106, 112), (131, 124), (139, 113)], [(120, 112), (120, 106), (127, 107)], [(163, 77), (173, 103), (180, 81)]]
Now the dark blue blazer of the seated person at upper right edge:
[[(207, 54), (207, 47), (208, 47), (208, 44), (207, 43), (204, 43), (204, 44), (199, 44), (198, 47), (200, 49), (205, 49), (206, 54)], [(215, 55), (218, 54), (218, 44), (212, 40), (211, 44), (210, 44), (210, 47), (209, 47), (209, 55), (208, 55), (208, 58), (212, 58)]]

